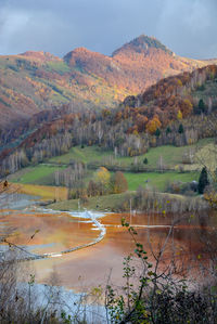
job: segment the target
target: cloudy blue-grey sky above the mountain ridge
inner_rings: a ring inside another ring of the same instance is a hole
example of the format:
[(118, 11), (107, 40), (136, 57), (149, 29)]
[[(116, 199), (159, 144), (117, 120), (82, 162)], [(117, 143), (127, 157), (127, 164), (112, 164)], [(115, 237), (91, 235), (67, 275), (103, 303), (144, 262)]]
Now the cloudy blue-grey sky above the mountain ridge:
[(0, 54), (111, 55), (142, 34), (181, 56), (217, 57), (217, 0), (0, 0)]

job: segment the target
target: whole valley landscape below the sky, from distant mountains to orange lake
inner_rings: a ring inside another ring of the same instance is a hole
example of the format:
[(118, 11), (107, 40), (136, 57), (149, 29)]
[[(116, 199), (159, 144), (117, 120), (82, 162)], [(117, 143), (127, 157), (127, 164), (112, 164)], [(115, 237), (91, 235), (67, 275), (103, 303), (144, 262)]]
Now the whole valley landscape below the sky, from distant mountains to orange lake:
[(0, 257), (33, 267), (29, 291), (60, 281), (144, 320), (144, 300), (215, 280), (216, 64), (145, 35), (111, 56), (0, 56)]

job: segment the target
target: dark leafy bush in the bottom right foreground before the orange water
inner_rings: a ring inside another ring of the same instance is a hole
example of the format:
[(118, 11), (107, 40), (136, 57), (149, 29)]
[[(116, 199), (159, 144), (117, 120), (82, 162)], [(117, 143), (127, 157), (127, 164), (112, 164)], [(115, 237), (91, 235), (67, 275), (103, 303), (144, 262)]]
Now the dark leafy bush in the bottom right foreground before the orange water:
[[(176, 222), (174, 222), (174, 225)], [(150, 263), (142, 244), (136, 241), (137, 232), (123, 220), (136, 243), (135, 263), (130, 255), (124, 259), (124, 275), (126, 280), (122, 291), (115, 291), (113, 286), (106, 287), (105, 306), (113, 324), (184, 324), (184, 323), (216, 323), (217, 317), (217, 277), (212, 272), (209, 284), (190, 288), (189, 283), (177, 277), (176, 258), (169, 264), (162, 257), (173, 231), (168, 232), (159, 250), (154, 254), (155, 265)], [(174, 226), (173, 225), (173, 226)], [(216, 260), (213, 260), (215, 267)], [(137, 267), (135, 267), (137, 264)], [(139, 273), (138, 273), (139, 269)], [(216, 269), (216, 268), (215, 268)], [(181, 270), (183, 271), (183, 269)], [(203, 275), (205, 275), (204, 270)], [(135, 277), (138, 284), (135, 284)], [(192, 284), (192, 283), (191, 283)]]

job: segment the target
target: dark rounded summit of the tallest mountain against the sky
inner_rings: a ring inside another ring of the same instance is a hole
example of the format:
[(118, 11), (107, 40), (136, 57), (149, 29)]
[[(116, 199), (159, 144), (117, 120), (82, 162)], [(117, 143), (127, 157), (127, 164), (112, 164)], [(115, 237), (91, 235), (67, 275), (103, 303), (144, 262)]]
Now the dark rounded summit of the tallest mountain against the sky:
[(149, 37), (146, 35), (140, 35), (139, 37), (135, 38), (130, 42), (124, 44), (120, 49), (113, 52), (112, 56), (115, 56), (123, 52), (133, 51), (138, 53), (146, 52), (149, 49), (159, 49), (164, 52), (173, 55), (173, 51), (167, 49), (166, 46), (164, 46), (159, 40), (157, 40), (155, 37)]

